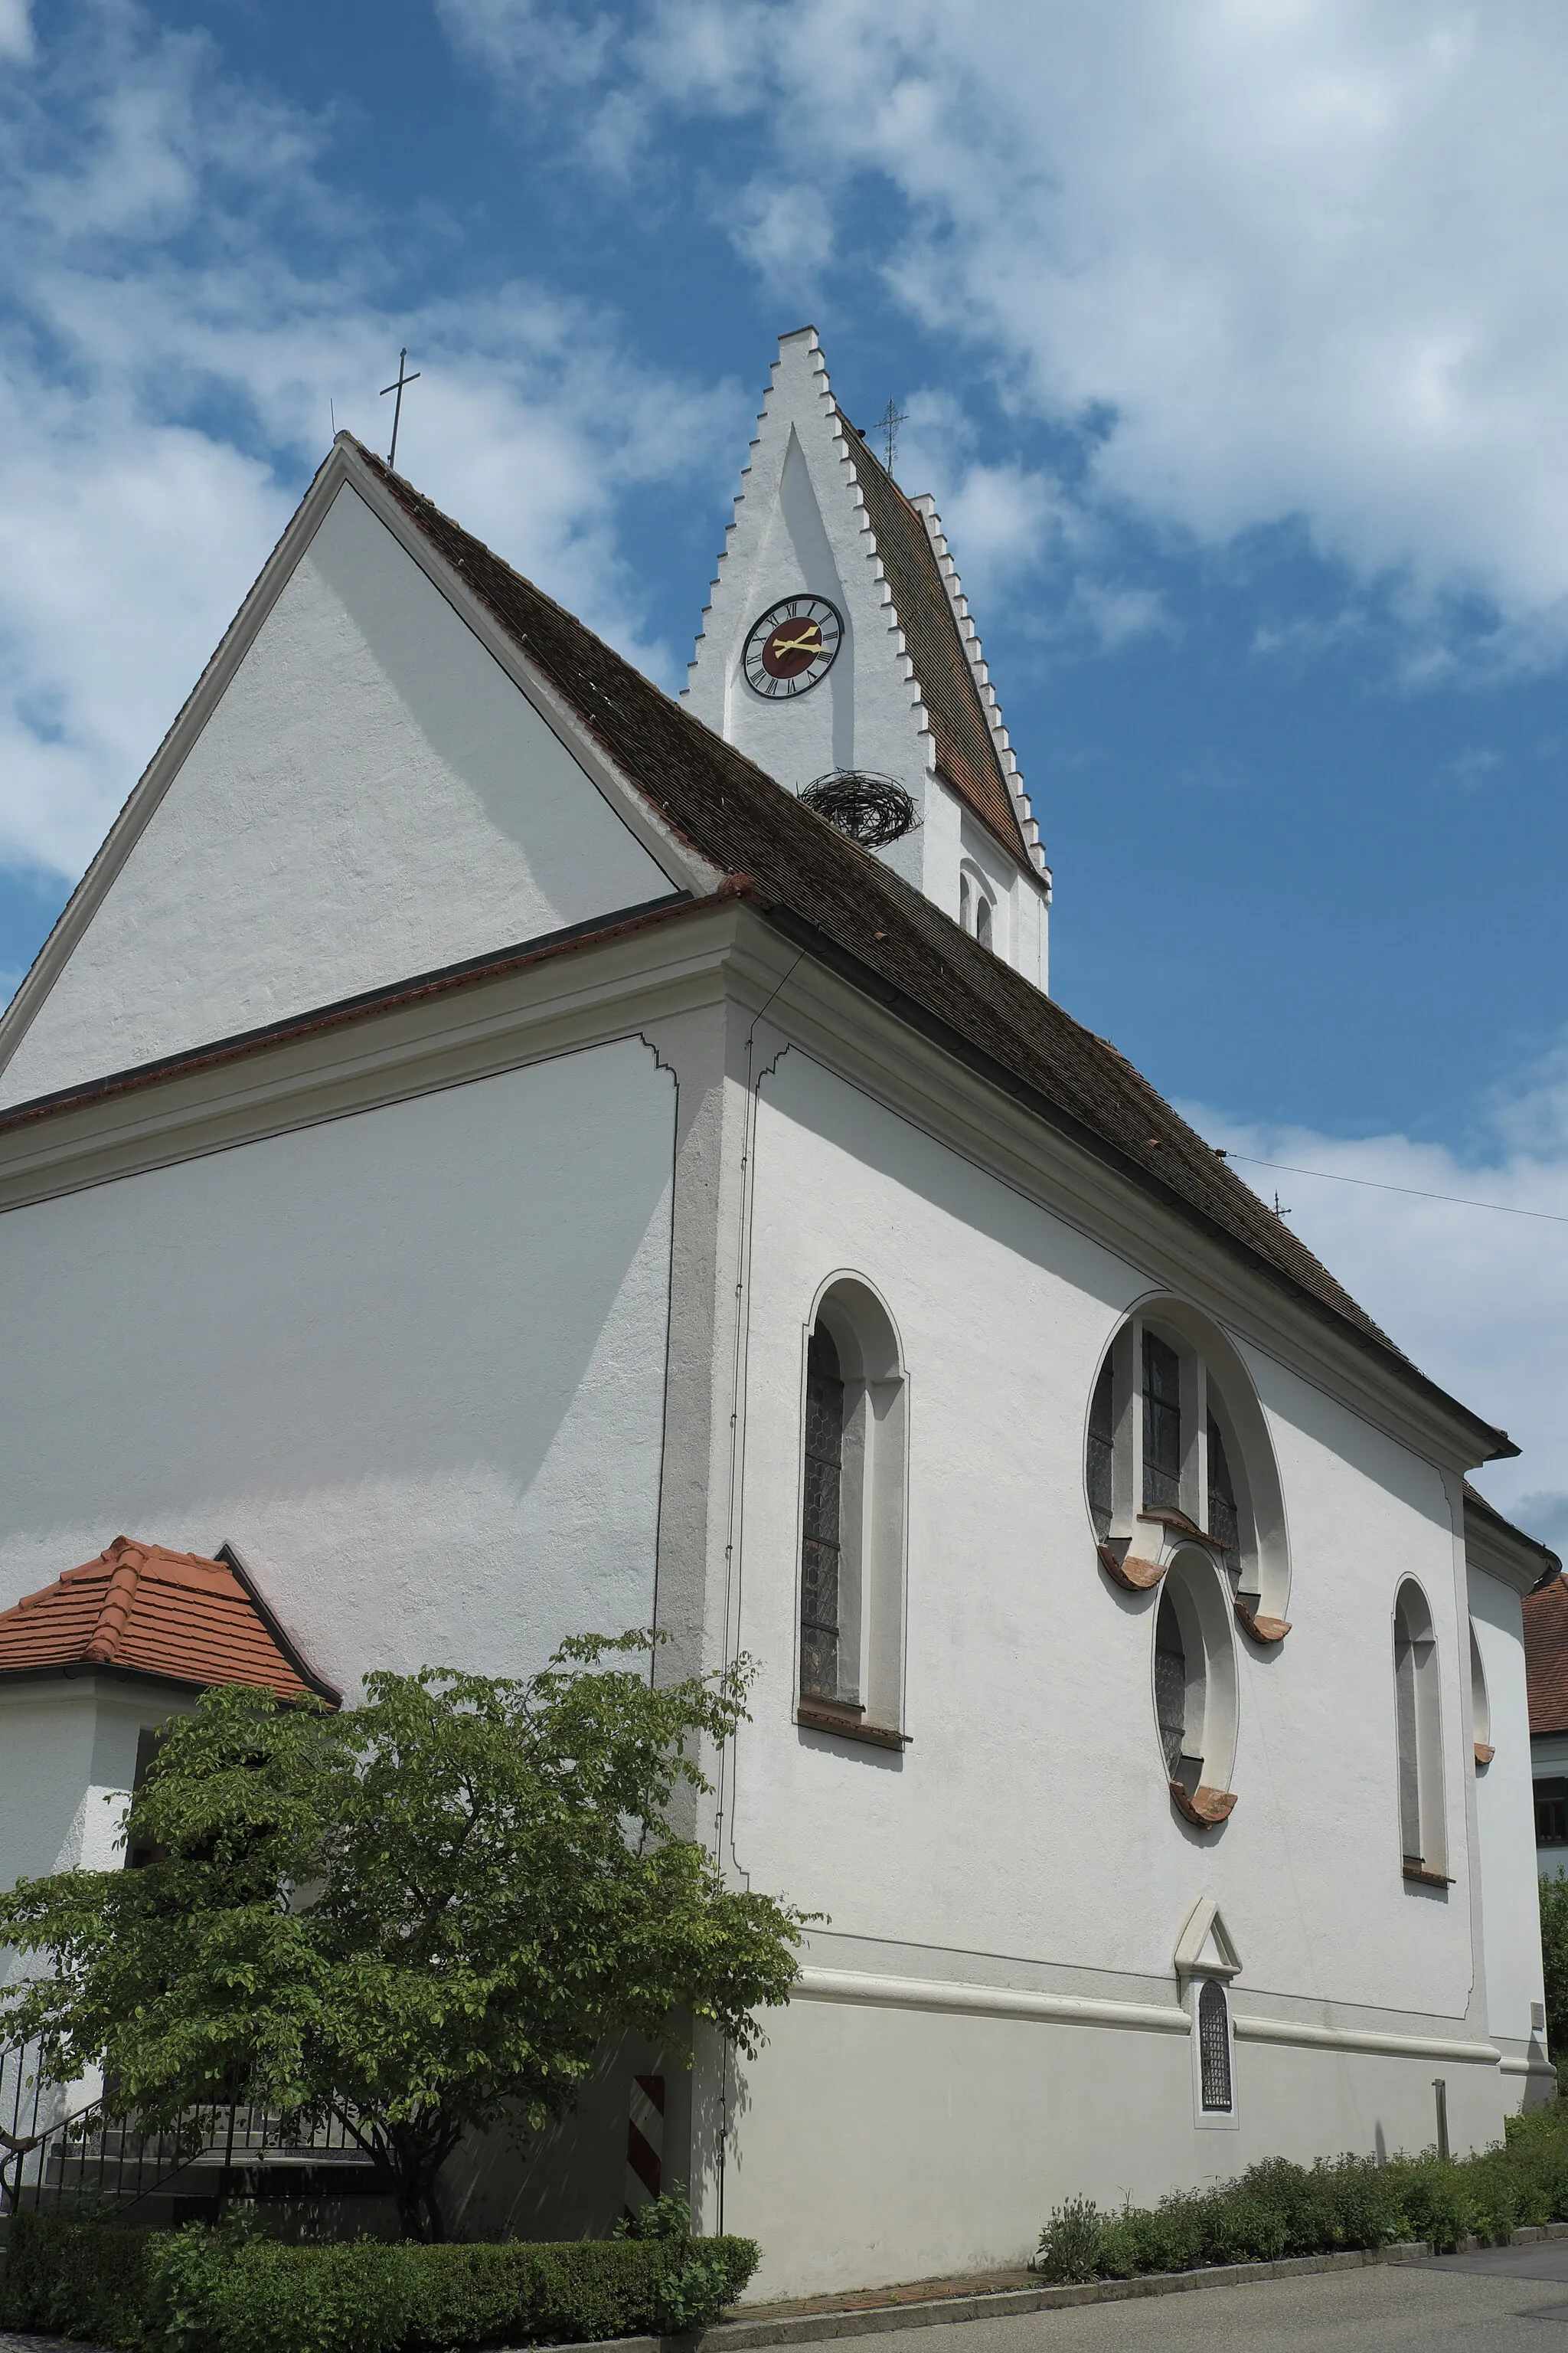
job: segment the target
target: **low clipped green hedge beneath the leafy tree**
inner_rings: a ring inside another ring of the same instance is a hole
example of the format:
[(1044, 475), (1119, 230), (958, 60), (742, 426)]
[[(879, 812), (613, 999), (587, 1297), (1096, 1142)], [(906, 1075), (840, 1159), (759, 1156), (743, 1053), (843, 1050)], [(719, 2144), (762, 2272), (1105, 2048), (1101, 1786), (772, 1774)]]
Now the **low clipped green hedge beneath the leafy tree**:
[(280, 2247), (21, 2212), (0, 2322), (122, 2353), (458, 2353), (708, 2327), (755, 2268), (750, 2238)]

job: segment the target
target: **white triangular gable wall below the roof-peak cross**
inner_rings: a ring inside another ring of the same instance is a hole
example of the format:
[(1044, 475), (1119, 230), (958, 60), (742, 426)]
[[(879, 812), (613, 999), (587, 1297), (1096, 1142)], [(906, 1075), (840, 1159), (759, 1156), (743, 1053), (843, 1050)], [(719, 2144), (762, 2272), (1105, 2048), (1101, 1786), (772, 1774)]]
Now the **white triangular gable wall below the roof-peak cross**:
[(0, 1073), (0, 1104), (670, 887), (346, 485)]

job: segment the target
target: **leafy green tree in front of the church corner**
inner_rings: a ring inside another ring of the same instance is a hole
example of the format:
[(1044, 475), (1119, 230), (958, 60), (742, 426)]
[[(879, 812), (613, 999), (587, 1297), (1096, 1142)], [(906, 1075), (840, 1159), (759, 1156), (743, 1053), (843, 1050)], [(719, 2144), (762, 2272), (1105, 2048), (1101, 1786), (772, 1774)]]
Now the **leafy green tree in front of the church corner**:
[(755, 2052), (806, 1915), (672, 1828), (750, 1668), (661, 1687), (649, 1645), (583, 1635), (522, 1682), (371, 1675), (336, 1715), (202, 1694), (129, 1809), (153, 1859), (0, 1897), (0, 1946), (49, 1972), (0, 1991), (0, 2031), (61, 2082), (101, 2066), (146, 2125), (235, 2092), (343, 2118), (411, 2238), (442, 2235), (463, 2132), (538, 2129), (609, 2035), (679, 2049), (689, 2014)]

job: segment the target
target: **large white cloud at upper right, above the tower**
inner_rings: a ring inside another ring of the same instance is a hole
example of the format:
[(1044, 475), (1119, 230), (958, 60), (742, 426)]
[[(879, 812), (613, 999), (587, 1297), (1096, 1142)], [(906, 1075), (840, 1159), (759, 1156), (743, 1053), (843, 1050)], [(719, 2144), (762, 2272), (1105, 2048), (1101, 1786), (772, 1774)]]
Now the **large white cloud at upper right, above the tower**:
[[(538, 59), (517, 0), (442, 16), (491, 68)], [(1095, 416), (1091, 496), (1201, 544), (1300, 515), (1413, 633), (1479, 593), (1495, 661), (1561, 659), (1561, 12), (646, 0), (583, 42), (623, 136), (628, 94), (649, 136), (661, 111), (755, 118), (743, 245), (797, 191), (851, 247), (856, 174), (884, 174), (907, 207), (889, 282), (1011, 398)], [(820, 266), (813, 235), (802, 296)]]

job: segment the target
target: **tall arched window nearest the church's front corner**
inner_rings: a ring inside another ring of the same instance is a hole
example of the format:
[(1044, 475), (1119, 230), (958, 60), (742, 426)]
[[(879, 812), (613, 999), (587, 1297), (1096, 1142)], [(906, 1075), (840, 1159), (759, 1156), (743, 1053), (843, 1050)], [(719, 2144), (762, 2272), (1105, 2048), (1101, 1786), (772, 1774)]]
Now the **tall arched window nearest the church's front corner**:
[(884, 1304), (853, 1275), (806, 1337), (799, 1720), (903, 1746), (907, 1384)]

